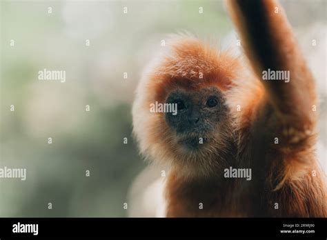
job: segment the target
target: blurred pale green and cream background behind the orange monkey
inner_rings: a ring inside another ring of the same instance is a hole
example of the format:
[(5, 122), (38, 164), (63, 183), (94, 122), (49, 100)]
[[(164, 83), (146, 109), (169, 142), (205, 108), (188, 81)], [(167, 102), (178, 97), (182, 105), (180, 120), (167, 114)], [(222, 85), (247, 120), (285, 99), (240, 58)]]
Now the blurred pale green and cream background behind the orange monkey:
[[(317, 79), (326, 170), (326, 1), (281, 3)], [(153, 214), (161, 171), (139, 157), (131, 106), (161, 40), (185, 31), (236, 45), (223, 1), (1, 1), (0, 166), (27, 169), (26, 181), (0, 179), (1, 217)], [(66, 83), (38, 80), (44, 68), (66, 70)]]

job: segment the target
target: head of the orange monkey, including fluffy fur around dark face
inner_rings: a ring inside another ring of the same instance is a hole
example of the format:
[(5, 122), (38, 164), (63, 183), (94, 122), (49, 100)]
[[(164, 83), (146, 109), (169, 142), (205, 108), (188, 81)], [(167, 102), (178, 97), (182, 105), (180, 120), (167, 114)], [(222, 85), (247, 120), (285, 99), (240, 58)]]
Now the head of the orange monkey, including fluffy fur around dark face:
[(226, 94), (239, 61), (194, 38), (180, 37), (143, 74), (133, 106), (141, 152), (186, 174), (227, 161), (233, 139)]

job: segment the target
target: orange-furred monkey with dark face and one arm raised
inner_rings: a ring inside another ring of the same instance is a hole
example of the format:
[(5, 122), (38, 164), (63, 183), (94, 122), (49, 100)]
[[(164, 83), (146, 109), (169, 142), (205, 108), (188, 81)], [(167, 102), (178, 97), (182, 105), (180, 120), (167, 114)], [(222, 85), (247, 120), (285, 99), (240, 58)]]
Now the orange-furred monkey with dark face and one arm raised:
[[(226, 3), (246, 60), (180, 36), (137, 88), (141, 154), (170, 168), (166, 216), (326, 217), (315, 81), (286, 14), (274, 0)], [(151, 112), (156, 102), (177, 114)]]

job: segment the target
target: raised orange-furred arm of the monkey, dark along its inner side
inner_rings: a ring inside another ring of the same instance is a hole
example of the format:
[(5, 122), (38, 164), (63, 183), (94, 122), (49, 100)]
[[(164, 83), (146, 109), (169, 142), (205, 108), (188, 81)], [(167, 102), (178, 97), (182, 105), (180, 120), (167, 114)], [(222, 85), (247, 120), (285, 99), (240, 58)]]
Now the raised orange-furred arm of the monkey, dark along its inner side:
[[(241, 45), (281, 121), (310, 132), (315, 123), (315, 85), (283, 8), (275, 0), (226, 2)], [(290, 81), (262, 80), (263, 71), (269, 70), (289, 71)]]

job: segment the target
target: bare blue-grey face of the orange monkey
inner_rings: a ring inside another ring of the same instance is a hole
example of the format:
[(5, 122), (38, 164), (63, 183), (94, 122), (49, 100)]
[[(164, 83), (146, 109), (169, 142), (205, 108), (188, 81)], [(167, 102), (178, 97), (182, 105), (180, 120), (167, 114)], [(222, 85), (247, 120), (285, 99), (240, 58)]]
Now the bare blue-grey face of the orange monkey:
[(175, 132), (178, 144), (192, 150), (214, 138), (226, 117), (224, 97), (215, 87), (197, 91), (177, 89), (170, 92), (166, 103), (177, 106), (177, 114), (166, 112), (167, 125)]

